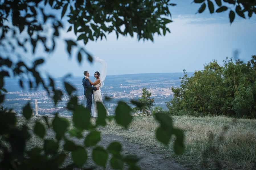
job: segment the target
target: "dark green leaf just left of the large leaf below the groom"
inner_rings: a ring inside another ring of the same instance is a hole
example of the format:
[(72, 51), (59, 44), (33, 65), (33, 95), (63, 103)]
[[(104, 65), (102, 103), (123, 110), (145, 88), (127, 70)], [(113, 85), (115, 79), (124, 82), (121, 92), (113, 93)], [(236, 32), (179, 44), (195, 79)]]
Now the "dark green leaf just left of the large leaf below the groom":
[(58, 117), (58, 114), (55, 114), (55, 117), (52, 121), (53, 130), (56, 133), (56, 139), (60, 140), (65, 135), (67, 128), (69, 127), (69, 122), (65, 118)]

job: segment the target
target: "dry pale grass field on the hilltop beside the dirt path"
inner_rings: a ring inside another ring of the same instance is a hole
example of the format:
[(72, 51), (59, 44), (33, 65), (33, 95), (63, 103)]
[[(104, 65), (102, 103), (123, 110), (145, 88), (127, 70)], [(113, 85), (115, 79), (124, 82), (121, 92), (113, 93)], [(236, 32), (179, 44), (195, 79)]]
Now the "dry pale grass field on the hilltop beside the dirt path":
[[(159, 124), (152, 116), (134, 116), (127, 130), (117, 125), (114, 120), (98, 130), (103, 134), (121, 135), (131, 142), (141, 143), (141, 147), (159, 148), (159, 151), (167, 153), (169, 158), (191, 169), (256, 169), (255, 119), (234, 119), (224, 116), (172, 118), (174, 126), (185, 133), (185, 153), (180, 156), (173, 153), (172, 141), (169, 146), (164, 146), (156, 140), (155, 129)], [(29, 122), (19, 118), (18, 125), (26, 123), (33, 129), (35, 119), (42, 117), (34, 116)], [(71, 117), (67, 119), (72, 122)], [(92, 121), (94, 122), (95, 118)], [(41, 122), (44, 123), (43, 120)], [(28, 142), (28, 147), (34, 145), (43, 145), (35, 135)]]

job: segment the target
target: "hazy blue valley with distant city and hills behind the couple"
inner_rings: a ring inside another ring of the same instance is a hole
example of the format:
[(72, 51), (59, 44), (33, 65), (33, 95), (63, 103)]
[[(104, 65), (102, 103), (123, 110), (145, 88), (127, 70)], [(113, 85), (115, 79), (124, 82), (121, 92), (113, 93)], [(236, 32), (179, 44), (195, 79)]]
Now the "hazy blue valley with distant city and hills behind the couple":
[[(190, 73), (192, 75), (192, 73)], [(131, 99), (138, 99), (142, 95), (142, 88), (147, 88), (151, 92), (151, 98), (154, 98), (154, 107), (159, 106), (167, 110), (165, 102), (173, 98), (171, 87), (180, 86), (180, 77), (183, 73), (153, 73), (153, 74), (130, 74), (130, 75), (111, 75), (107, 76), (104, 81), (104, 87), (101, 88), (103, 102), (110, 112), (114, 114), (118, 101), (129, 103)], [(94, 77), (90, 76), (94, 81)], [(55, 107), (54, 102), (42, 88), (28, 90), (25, 86), (23, 89), (19, 86), (19, 79), (6, 79), (5, 88), (7, 90), (4, 108), (12, 108), (16, 113), (21, 113), (22, 107), (30, 102), (31, 107), (35, 110), (35, 100), (37, 100), (38, 114), (54, 114), (59, 112), (61, 115), (71, 115), (72, 113), (65, 109), (69, 96), (65, 93), (64, 81), (69, 82), (76, 88), (75, 95), (78, 96), (79, 103), (86, 106), (86, 98), (82, 86), (83, 77), (62, 77), (54, 78), (55, 86), (60, 88), (64, 95), (62, 101)], [(106, 101), (104, 96), (111, 98)], [(132, 104), (130, 106), (134, 107)]]

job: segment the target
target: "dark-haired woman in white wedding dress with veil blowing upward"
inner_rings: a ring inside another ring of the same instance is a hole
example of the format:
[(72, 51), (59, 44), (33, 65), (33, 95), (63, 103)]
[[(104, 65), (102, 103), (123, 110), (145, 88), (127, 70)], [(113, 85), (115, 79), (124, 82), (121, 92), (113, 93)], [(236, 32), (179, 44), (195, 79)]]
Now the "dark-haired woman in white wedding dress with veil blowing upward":
[[(100, 88), (100, 87), (103, 87), (103, 85), (104, 85), (104, 80), (106, 78), (106, 73), (107, 73), (107, 64), (105, 63), (105, 61), (103, 59), (99, 59), (98, 57), (94, 58), (94, 60), (102, 63), (103, 75), (101, 75), (101, 79), (100, 79), (100, 73), (98, 71), (96, 71), (94, 73), (94, 78), (96, 78), (96, 80), (94, 82), (91, 82), (91, 80), (88, 77), (86, 77), (86, 78), (89, 80), (91, 85), (93, 85), (94, 87)], [(93, 117), (98, 117), (98, 111), (97, 111), (97, 106), (96, 106), (97, 102), (101, 102), (103, 104), (103, 100), (101, 97), (101, 89), (96, 90), (96, 91), (93, 90), (93, 110), (92, 110), (92, 114), (91, 114), (91, 116), (93, 116)], [(104, 104), (103, 104), (103, 106), (104, 106)], [(106, 109), (106, 107), (105, 107), (105, 109)], [(107, 115), (109, 115), (109, 112), (107, 109), (106, 109), (106, 112), (107, 112)]]

